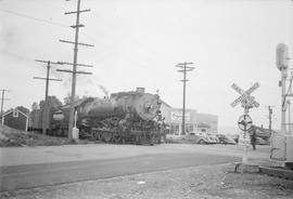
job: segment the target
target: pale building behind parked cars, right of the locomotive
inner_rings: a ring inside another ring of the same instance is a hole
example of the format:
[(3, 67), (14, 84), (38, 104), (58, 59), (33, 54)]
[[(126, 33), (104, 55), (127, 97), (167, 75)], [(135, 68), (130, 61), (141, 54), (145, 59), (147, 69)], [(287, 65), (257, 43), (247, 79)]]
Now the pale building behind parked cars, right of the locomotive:
[[(165, 123), (169, 127), (169, 134), (181, 135), (182, 133), (182, 109), (173, 108), (162, 102), (161, 111)], [(194, 132), (217, 133), (218, 117), (211, 114), (200, 114), (195, 109), (186, 109), (186, 134)]]

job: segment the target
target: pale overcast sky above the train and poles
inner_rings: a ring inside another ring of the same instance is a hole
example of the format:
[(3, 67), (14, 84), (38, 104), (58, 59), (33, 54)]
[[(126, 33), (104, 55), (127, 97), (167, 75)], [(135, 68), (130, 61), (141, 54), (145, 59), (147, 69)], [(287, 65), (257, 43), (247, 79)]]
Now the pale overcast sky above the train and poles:
[[(260, 104), (251, 109), (255, 124), (268, 125), (268, 105), (273, 107), (273, 128), (280, 128), (280, 71), (276, 47), (286, 43), (293, 57), (293, 2), (290, 0), (82, 0), (78, 62), (92, 76), (78, 76), (79, 96), (103, 96), (99, 84), (110, 93), (144, 87), (160, 90), (173, 107), (182, 106), (182, 74), (176, 64), (193, 62), (188, 74), (187, 107), (219, 117), (220, 127), (235, 127), (243, 108), (230, 106), (239, 94), (237, 83), (247, 90), (260, 87), (253, 96)], [(30, 108), (44, 97), (46, 65), (35, 59), (73, 62), (76, 0), (0, 0), (0, 89), (10, 89), (4, 108)], [(291, 67), (292, 67), (291, 62)], [(69, 74), (51, 78), (50, 95), (71, 92)], [(293, 105), (291, 109), (293, 108)], [(293, 115), (292, 115), (293, 118)]]

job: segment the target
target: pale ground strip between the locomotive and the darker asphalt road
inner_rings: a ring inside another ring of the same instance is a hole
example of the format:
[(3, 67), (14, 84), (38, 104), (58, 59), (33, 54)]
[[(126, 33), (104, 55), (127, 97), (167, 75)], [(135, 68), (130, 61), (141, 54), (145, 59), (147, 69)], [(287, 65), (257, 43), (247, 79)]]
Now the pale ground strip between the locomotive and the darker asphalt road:
[[(194, 145), (162, 144), (155, 146), (135, 145), (63, 145), (38, 147), (0, 148), (0, 167), (23, 165), (49, 162), (84, 161), (97, 159), (116, 159), (152, 154), (205, 152), (241, 157), (242, 146), (238, 145)], [(268, 157), (269, 146), (257, 146), (256, 151), (250, 148), (250, 157)], [(264, 156), (265, 155), (265, 156)]]

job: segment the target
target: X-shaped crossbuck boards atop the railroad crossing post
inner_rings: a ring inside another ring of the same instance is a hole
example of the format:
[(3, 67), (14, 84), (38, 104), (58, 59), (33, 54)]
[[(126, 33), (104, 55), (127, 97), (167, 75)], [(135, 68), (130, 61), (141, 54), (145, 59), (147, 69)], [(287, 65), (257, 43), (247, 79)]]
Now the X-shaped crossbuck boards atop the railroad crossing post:
[(242, 103), (245, 107), (258, 107), (259, 104), (251, 96), (252, 92), (254, 92), (257, 88), (259, 88), (259, 83), (254, 83), (247, 91), (243, 91), (240, 87), (233, 83), (232, 89), (235, 90), (240, 95), (234, 102), (231, 103), (232, 107), (235, 107), (239, 103)]

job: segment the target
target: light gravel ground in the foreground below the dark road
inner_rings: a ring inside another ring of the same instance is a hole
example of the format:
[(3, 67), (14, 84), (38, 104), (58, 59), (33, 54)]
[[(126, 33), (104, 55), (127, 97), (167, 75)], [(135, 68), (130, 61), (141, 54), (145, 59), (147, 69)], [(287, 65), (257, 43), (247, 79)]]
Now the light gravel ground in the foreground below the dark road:
[(201, 165), (2, 193), (10, 199), (293, 198), (293, 181), (233, 173), (232, 164)]

